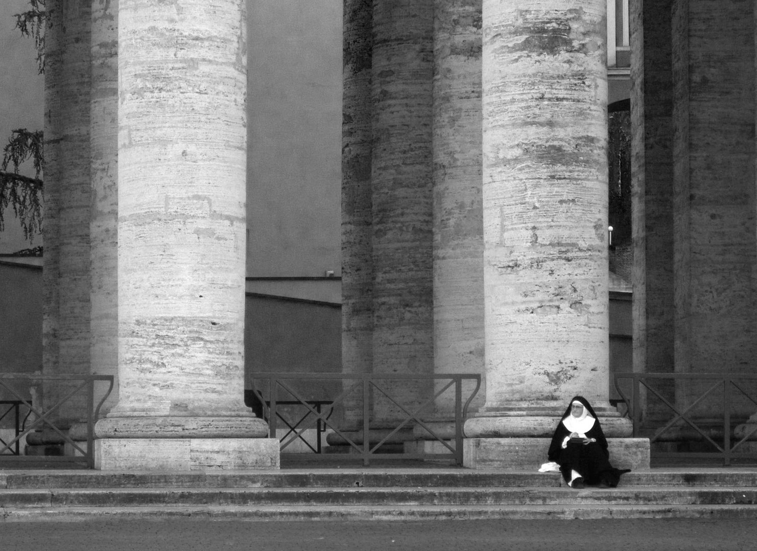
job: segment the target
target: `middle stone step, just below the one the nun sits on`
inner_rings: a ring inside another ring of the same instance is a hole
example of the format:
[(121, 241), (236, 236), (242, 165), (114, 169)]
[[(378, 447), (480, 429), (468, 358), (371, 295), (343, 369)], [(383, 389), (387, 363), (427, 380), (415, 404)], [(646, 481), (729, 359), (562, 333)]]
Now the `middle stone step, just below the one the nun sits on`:
[[(754, 505), (757, 488), (118, 488), (2, 490), (0, 507)], [(757, 508), (755, 508), (757, 509)], [(757, 510), (755, 510), (757, 512)]]

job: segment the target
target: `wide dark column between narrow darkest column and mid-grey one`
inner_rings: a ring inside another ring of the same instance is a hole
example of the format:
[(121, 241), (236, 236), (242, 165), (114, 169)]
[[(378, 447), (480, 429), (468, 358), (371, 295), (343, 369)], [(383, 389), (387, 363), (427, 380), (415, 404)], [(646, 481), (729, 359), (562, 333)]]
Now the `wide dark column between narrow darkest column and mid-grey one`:
[[(373, 39), (373, 372), (433, 373), (432, 0), (375, 0)], [(412, 405), (432, 385), (386, 388)], [(374, 398), (379, 421), (404, 417)]]

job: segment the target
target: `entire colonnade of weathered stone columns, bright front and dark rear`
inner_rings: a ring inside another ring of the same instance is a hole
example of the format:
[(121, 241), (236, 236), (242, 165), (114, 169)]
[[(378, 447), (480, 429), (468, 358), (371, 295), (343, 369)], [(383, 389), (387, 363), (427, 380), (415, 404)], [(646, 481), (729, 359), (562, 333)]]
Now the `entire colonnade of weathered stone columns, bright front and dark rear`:
[[(244, 2), (48, 3), (45, 372), (117, 371), (102, 468), (273, 465), (240, 399)], [(543, 438), (577, 394), (630, 433), (608, 401), (605, 10), (344, 2), (343, 369), (480, 373), (472, 441)], [(753, 12), (632, 2), (637, 370), (752, 370)]]

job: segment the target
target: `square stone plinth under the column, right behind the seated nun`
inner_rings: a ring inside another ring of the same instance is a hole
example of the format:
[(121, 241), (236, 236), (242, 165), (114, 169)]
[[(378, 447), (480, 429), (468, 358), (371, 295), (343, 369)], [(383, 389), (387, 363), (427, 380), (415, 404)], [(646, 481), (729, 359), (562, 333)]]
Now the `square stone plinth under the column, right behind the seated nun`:
[[(536, 471), (547, 463), (552, 438), (466, 438), (463, 466), (468, 469)], [(649, 438), (608, 438), (610, 463), (617, 469), (650, 468)]]

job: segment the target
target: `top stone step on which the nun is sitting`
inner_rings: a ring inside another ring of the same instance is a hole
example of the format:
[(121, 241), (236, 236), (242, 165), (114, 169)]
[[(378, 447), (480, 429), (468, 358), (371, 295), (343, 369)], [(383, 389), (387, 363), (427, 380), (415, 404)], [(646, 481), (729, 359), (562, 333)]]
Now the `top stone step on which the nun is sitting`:
[[(469, 469), (311, 469), (245, 472), (5, 471), (0, 488), (556, 488), (557, 473)], [(621, 487), (757, 486), (757, 469), (651, 469)]]

